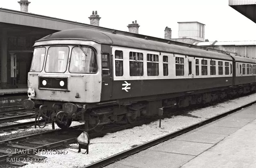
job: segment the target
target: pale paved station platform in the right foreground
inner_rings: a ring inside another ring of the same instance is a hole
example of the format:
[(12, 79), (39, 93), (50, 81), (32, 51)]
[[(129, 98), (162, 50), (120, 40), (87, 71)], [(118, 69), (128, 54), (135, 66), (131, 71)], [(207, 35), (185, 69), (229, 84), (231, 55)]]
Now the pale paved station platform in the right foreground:
[(256, 168), (256, 105), (106, 168)]

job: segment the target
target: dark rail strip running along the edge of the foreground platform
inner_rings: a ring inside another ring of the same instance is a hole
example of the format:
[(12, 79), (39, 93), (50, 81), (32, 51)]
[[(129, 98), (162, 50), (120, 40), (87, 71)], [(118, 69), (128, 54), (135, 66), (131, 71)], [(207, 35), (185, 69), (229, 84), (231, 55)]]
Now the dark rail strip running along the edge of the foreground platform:
[(82, 167), (82, 168), (105, 167), (105, 166), (107, 166), (107, 165), (109, 165), (109, 164), (113, 164), (113, 163), (115, 163), (115, 162), (117, 162), (117, 161), (119, 161), (119, 160), (122, 160), (122, 159), (124, 159), (124, 158), (126, 158), (126, 157), (129, 157), (129, 156), (131, 156), (131, 155), (134, 155), (134, 154), (136, 154), (136, 153), (139, 153), (139, 152), (141, 152), (141, 151), (143, 151), (143, 150), (146, 150), (146, 149), (148, 149), (148, 148), (150, 148), (150, 147), (152, 147), (152, 146), (155, 146), (155, 145), (157, 145), (157, 144), (160, 144), (160, 143), (162, 143), (162, 142), (164, 142), (164, 141), (168, 141), (168, 140), (170, 140), (170, 139), (172, 139), (172, 138), (174, 138), (174, 137), (177, 137), (177, 136), (180, 136), (180, 135), (182, 135), (182, 134), (185, 134), (185, 133), (187, 133), (187, 132), (189, 132), (189, 131), (191, 131), (191, 130), (194, 130), (194, 129), (200, 127), (200, 126), (204, 126), (204, 125), (206, 125), (206, 124), (208, 124), (208, 123), (211, 123), (211, 122), (213, 122), (213, 121), (215, 121), (215, 120), (217, 120), (217, 119), (220, 119), (220, 118), (222, 118), (222, 117), (225, 117), (225, 116), (227, 116), (228, 114), (234, 113), (234, 112), (236, 112), (236, 111), (238, 111), (238, 110), (241, 110), (241, 109), (243, 109), (243, 108), (245, 108), (245, 107), (251, 106), (251, 105), (254, 104), (254, 103), (256, 103), (256, 101), (253, 101), (253, 102), (248, 103), (248, 104), (246, 104), (246, 105), (244, 105), (244, 106), (241, 106), (241, 107), (238, 107), (238, 108), (236, 108), (236, 109), (233, 109), (233, 110), (231, 110), (231, 111), (222, 113), (222, 114), (217, 115), (217, 116), (215, 116), (215, 117), (206, 119), (206, 120), (204, 120), (204, 121), (202, 121), (202, 122), (199, 122), (199, 123), (197, 123), (197, 124), (194, 124), (194, 125), (192, 125), (192, 126), (188, 126), (188, 127), (186, 127), (186, 128), (183, 128), (183, 129), (181, 129), (181, 130), (175, 131), (175, 132), (173, 132), (173, 133), (164, 135), (164, 136), (162, 136), (162, 137), (160, 137), (160, 138), (157, 138), (157, 139), (155, 139), (155, 140), (148, 141), (148, 142), (146, 142), (146, 143), (144, 143), (144, 144), (141, 144), (141, 145), (139, 145), (139, 146), (133, 147), (133, 148), (128, 149), (128, 150), (125, 150), (125, 151), (120, 152), (120, 153), (118, 153), (118, 154), (116, 154), (116, 155), (113, 155), (113, 156), (111, 156), (111, 157), (102, 159), (102, 160), (100, 160), (100, 161), (98, 161), (98, 162), (95, 162), (95, 163), (86, 165), (86, 166), (84, 166), (84, 167)]

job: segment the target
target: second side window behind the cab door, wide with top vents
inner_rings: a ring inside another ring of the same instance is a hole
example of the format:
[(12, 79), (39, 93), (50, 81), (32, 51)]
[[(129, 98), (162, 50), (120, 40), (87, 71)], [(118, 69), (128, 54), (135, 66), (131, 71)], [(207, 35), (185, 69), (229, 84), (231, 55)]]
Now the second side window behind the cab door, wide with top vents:
[(143, 76), (143, 54), (130, 52), (130, 76)]

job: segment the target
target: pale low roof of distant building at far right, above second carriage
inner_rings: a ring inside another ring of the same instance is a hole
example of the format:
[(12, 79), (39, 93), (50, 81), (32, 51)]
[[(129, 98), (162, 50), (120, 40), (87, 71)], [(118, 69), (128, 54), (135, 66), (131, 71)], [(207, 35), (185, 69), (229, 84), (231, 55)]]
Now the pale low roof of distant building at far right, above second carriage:
[[(211, 46), (213, 42), (197, 42), (194, 45), (198, 46)], [(256, 45), (256, 41), (227, 41), (216, 42), (214, 45)]]

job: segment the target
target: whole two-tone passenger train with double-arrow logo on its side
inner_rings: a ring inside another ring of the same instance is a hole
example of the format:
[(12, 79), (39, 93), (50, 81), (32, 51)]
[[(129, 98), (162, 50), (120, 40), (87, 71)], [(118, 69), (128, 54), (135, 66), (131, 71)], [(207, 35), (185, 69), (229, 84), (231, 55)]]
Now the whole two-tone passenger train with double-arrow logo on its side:
[(35, 42), (25, 109), (66, 129), (152, 116), (255, 92), (256, 59), (164, 42), (70, 29)]

